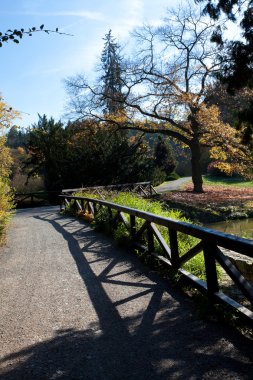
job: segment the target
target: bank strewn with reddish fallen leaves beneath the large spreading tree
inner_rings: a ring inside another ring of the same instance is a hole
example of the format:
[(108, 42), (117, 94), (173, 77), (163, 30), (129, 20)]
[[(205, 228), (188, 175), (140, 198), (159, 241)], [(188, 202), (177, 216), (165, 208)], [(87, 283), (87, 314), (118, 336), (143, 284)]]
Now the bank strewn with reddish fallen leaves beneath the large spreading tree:
[(253, 217), (253, 181), (204, 176), (204, 193), (192, 192), (192, 184), (161, 196), (170, 207), (201, 223)]

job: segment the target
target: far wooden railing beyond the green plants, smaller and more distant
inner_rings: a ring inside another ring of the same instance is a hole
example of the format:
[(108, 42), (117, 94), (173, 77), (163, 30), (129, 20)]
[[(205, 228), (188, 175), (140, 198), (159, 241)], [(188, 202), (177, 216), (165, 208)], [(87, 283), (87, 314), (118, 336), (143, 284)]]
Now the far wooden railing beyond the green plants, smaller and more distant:
[(150, 198), (153, 195), (157, 194), (151, 182), (136, 182), (109, 186), (92, 186), (81, 187), (78, 189), (64, 189), (62, 190), (62, 193), (71, 195), (76, 192), (89, 192), (92, 195), (98, 195), (100, 198), (104, 199), (105, 192), (107, 195), (110, 195), (112, 193), (120, 191), (139, 194), (145, 198)]

